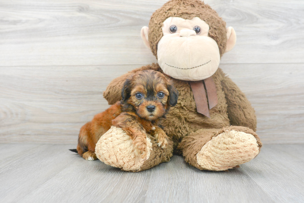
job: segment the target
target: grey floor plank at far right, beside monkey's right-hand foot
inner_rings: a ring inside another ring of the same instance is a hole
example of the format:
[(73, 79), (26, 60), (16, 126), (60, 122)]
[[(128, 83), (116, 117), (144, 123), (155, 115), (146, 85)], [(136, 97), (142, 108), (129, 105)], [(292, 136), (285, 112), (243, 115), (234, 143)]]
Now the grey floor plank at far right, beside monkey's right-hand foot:
[(261, 150), (256, 159), (240, 170), (253, 178), (275, 202), (302, 202), (303, 145), (266, 145)]

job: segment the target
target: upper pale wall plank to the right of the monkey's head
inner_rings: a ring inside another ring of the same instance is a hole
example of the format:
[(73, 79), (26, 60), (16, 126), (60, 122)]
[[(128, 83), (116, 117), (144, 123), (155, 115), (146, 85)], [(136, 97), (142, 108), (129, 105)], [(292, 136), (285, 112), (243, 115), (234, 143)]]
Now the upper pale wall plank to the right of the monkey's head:
[[(303, 1), (205, 0), (232, 26), (237, 42), (222, 63), (302, 63)], [(293, 53), (289, 58), (289, 53)]]

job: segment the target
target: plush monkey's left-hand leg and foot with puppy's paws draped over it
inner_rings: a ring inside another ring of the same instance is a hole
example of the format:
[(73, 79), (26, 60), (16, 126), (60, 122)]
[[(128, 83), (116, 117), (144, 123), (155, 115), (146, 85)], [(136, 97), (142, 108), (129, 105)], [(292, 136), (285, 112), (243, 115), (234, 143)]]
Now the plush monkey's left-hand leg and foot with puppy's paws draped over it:
[(164, 149), (158, 146), (157, 140), (151, 135), (146, 137), (146, 142), (147, 154), (142, 159), (135, 153), (132, 138), (121, 128), (111, 126), (96, 143), (95, 153), (105, 164), (132, 172), (147, 170), (170, 161), (173, 153), (173, 142), (170, 138)]

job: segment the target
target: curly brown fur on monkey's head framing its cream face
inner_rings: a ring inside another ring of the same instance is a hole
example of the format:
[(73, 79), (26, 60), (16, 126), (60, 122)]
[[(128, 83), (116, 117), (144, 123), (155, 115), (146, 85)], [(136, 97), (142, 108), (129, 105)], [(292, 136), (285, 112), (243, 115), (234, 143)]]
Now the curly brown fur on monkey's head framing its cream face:
[(171, 0), (156, 10), (149, 23), (149, 42), (152, 53), (157, 58), (157, 44), (163, 37), (161, 27), (168, 17), (192, 19), (199, 17), (210, 26), (208, 36), (217, 42), (222, 56), (226, 50), (226, 22), (209, 5), (199, 0)]

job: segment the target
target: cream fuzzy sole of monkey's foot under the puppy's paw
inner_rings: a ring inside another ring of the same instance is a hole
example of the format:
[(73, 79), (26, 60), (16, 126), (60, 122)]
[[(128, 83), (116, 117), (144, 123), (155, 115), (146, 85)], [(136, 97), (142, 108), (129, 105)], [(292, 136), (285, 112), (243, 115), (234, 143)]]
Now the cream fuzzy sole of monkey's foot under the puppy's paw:
[(135, 154), (132, 139), (121, 128), (111, 126), (96, 143), (97, 158), (107, 165), (125, 171), (140, 171), (145, 160), (149, 159), (152, 143), (147, 138), (147, 154), (144, 159)]

